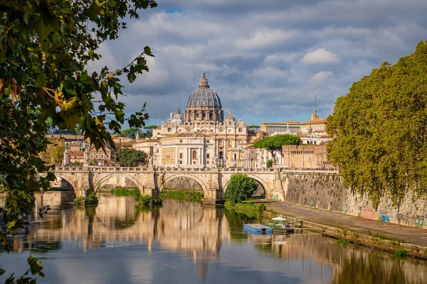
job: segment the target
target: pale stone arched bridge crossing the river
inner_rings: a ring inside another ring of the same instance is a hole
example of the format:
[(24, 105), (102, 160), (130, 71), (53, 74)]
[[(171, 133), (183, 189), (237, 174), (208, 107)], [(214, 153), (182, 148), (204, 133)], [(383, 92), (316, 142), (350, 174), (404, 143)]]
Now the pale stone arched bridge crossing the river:
[(75, 195), (97, 192), (110, 178), (124, 177), (137, 185), (143, 195), (156, 197), (167, 182), (185, 177), (194, 180), (204, 192), (205, 200), (222, 200), (234, 173), (246, 173), (263, 187), (265, 197), (285, 200), (280, 171), (238, 168), (124, 168), (124, 167), (56, 167), (55, 175), (73, 187)]

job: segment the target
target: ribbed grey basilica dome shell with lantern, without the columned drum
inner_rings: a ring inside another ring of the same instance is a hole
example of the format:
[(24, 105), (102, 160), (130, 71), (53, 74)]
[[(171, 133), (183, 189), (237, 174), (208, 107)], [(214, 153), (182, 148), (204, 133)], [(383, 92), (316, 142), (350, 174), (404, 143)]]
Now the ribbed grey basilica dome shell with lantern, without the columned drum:
[(201, 77), (199, 87), (191, 93), (187, 107), (219, 107), (221, 108), (221, 99), (218, 94), (209, 87), (205, 72)]

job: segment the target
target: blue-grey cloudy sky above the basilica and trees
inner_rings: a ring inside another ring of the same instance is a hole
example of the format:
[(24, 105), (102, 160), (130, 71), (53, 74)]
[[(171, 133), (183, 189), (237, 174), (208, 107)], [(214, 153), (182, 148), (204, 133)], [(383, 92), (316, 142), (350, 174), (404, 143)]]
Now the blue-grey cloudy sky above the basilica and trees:
[(90, 70), (115, 70), (149, 45), (149, 72), (120, 98), (127, 113), (147, 102), (147, 125), (186, 108), (206, 70), (223, 111), (248, 124), (320, 118), (353, 82), (427, 40), (426, 0), (158, 0), (102, 43)]

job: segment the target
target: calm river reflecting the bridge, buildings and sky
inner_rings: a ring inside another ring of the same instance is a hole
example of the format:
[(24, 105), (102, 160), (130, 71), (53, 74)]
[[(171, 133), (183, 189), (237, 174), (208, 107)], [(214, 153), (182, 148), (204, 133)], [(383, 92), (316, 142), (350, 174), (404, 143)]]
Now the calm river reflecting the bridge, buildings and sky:
[(22, 275), (30, 254), (46, 273), (38, 283), (427, 283), (426, 262), (318, 234), (248, 234), (246, 217), (225, 209), (175, 200), (148, 209), (108, 195), (75, 209), (59, 196), (45, 195), (53, 209), (0, 253), (0, 283)]

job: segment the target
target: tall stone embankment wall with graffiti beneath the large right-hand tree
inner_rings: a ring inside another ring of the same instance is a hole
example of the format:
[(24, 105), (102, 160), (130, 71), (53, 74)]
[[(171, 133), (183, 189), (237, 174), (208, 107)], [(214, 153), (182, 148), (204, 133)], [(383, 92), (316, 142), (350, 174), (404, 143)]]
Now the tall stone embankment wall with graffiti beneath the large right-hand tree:
[(281, 176), (285, 199), (288, 202), (351, 214), (384, 222), (427, 228), (427, 200), (408, 193), (399, 206), (383, 197), (374, 209), (367, 195), (343, 186), (337, 173), (290, 173)]

